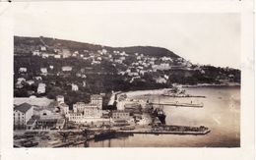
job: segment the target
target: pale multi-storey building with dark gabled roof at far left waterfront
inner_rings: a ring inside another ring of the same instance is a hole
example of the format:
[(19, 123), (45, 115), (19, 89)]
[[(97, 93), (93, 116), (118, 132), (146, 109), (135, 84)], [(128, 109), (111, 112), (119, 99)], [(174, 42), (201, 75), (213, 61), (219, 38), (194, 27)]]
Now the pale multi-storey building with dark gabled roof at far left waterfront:
[(14, 107), (14, 129), (25, 130), (27, 123), (32, 119), (33, 107), (29, 103), (23, 103)]

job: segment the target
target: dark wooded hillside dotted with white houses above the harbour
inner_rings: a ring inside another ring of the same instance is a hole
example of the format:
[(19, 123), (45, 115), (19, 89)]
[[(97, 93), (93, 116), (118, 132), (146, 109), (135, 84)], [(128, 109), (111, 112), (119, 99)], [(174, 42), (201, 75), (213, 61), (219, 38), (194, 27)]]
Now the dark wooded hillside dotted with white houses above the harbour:
[[(240, 71), (199, 66), (160, 47), (110, 47), (48, 37), (14, 37), (14, 96), (68, 95), (158, 89), (173, 83), (239, 84)], [(45, 86), (38, 91), (39, 83)]]

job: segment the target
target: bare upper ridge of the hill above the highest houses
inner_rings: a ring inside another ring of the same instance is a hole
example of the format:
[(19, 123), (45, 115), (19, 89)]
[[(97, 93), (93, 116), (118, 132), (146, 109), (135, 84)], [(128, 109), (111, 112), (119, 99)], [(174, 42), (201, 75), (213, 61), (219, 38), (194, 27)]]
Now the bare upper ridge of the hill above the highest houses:
[(14, 44), (16, 49), (19, 49), (19, 48), (23, 49), (24, 47), (28, 47), (28, 49), (24, 50), (24, 52), (17, 52), (18, 54), (19, 53), (30, 54), (34, 49), (33, 47), (39, 49), (41, 45), (44, 45), (46, 46), (48, 51), (53, 51), (54, 48), (55, 49), (69, 48), (71, 51), (79, 51), (81, 53), (84, 50), (97, 51), (101, 49), (106, 49), (109, 52), (125, 51), (127, 54), (133, 54), (138, 52), (138, 53), (149, 55), (149, 56), (156, 56), (156, 57), (167, 56), (172, 58), (179, 58), (178, 55), (161, 47), (154, 47), (154, 46), (109, 47), (109, 46), (102, 46), (97, 44), (90, 44), (90, 43), (42, 37), (42, 36), (40, 37), (15, 36)]

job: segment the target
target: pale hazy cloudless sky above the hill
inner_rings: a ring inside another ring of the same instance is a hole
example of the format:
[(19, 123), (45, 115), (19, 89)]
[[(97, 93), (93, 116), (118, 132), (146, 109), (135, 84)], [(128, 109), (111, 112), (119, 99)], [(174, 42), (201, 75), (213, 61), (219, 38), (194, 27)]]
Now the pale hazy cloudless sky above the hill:
[(88, 12), (90, 8), (81, 4), (73, 9), (50, 3), (17, 5), (15, 34), (113, 47), (160, 46), (192, 63), (240, 68), (239, 14), (131, 13), (125, 9), (104, 13), (102, 6), (94, 8)]

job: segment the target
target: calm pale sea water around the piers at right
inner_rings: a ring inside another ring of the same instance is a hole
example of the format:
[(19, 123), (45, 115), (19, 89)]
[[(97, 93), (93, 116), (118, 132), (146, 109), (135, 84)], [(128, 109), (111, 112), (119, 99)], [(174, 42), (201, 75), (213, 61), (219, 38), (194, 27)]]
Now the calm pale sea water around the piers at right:
[(166, 96), (136, 96), (155, 102), (179, 101), (204, 103), (203, 108), (165, 106), (166, 124), (206, 126), (206, 135), (134, 134), (129, 137), (90, 141), (90, 147), (239, 147), (240, 87), (187, 88), (187, 93), (206, 98), (170, 98)]

